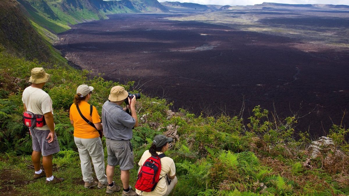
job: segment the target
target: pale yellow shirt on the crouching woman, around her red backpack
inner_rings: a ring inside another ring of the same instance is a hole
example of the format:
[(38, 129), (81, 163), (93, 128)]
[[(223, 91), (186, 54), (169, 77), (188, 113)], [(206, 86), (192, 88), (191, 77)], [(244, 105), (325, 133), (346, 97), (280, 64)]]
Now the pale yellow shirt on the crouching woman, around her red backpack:
[[(157, 152), (157, 154), (162, 154), (162, 152)], [(151, 156), (151, 154), (149, 153), (149, 150), (146, 150), (142, 157), (141, 160), (139, 160), (138, 165), (140, 166), (140, 168), (142, 167), (142, 165), (144, 164), (144, 162)], [(161, 180), (159, 180), (159, 182), (157, 183), (155, 189), (151, 192), (142, 192), (140, 190), (136, 189), (136, 193), (138, 195), (158, 195), (158, 196), (162, 196), (166, 194), (167, 191), (167, 186), (166, 186), (166, 174), (169, 174), (170, 176), (173, 176), (174, 174), (176, 174), (176, 166), (174, 165), (174, 161), (173, 159), (171, 159), (170, 157), (164, 157), (160, 159), (161, 161), (161, 172), (160, 172), (160, 176), (159, 178), (161, 178), (162, 176), (164, 176)], [(140, 169), (139, 168), (139, 169)], [(139, 172), (138, 169), (138, 172)], [(171, 180), (171, 179), (169, 179)]]

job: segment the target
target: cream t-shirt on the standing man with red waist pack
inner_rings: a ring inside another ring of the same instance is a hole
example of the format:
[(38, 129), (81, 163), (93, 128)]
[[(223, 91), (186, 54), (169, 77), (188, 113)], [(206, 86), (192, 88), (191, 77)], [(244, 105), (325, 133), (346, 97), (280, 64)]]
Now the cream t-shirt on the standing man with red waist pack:
[[(52, 100), (45, 91), (39, 88), (28, 86), (24, 89), (22, 101), (27, 107), (27, 111), (34, 114), (44, 115), (47, 112), (52, 112)], [(35, 127), (38, 130), (50, 130), (49, 126)]]

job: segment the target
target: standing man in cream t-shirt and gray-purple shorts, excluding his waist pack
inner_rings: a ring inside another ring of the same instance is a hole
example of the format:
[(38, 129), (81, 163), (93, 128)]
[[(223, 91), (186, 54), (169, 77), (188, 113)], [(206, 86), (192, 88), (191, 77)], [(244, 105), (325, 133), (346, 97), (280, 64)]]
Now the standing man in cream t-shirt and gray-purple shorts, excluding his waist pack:
[[(49, 94), (42, 90), (49, 78), (50, 74), (46, 74), (44, 68), (33, 68), (29, 79), (32, 84), (24, 89), (22, 101), (24, 112), (44, 115), (46, 123), (43, 127), (30, 129), (33, 145), (31, 160), (35, 169), (34, 179), (46, 176), (46, 183), (54, 184), (64, 181), (64, 178), (52, 175), (52, 154), (59, 152), (59, 144), (54, 132), (52, 100)], [(45, 171), (40, 168), (41, 155)]]

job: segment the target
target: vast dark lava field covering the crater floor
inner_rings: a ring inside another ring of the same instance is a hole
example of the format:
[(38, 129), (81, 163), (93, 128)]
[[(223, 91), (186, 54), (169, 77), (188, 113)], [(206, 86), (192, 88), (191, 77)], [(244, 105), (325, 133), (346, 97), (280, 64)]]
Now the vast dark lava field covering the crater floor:
[[(243, 108), (247, 123), (254, 106), (260, 105), (280, 118), (297, 114), (296, 130), (309, 130), (313, 136), (341, 123), (349, 109), (348, 47), (168, 20), (179, 16), (110, 15), (108, 20), (73, 25), (59, 34), (55, 47), (75, 66), (103, 73), (106, 80), (136, 81), (142, 93), (173, 101), (174, 110), (233, 116)], [(324, 21), (309, 24), (321, 26)], [(295, 23), (282, 21), (287, 22)], [(349, 28), (347, 19), (339, 24)], [(349, 114), (342, 122), (346, 127), (348, 119)]]

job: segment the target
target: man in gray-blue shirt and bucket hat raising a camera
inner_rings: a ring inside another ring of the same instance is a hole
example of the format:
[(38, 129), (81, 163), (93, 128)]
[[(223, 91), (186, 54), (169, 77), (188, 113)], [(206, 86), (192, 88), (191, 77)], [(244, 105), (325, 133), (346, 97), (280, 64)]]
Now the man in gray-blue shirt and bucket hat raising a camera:
[[(123, 108), (121, 104), (126, 98), (130, 105)], [(114, 86), (108, 99), (102, 107), (103, 133), (108, 153), (106, 175), (109, 185), (106, 193), (114, 193), (121, 189), (113, 181), (115, 166), (120, 165), (120, 178), (124, 188), (122, 196), (136, 196), (136, 192), (129, 186), (129, 170), (133, 168), (134, 160), (130, 140), (132, 139), (132, 128), (138, 127), (136, 98), (133, 97), (130, 100), (124, 87)], [(131, 115), (126, 112), (127, 109), (131, 111)]]

